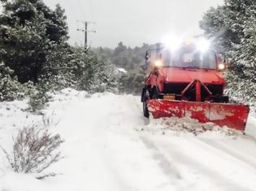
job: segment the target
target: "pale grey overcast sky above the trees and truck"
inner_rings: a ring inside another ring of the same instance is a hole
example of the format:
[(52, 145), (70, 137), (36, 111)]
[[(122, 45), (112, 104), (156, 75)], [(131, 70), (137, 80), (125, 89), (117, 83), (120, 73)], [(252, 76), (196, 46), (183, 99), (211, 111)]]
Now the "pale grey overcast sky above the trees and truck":
[(156, 43), (168, 33), (193, 36), (202, 33), (198, 21), (210, 6), (223, 0), (45, 0), (54, 7), (59, 3), (66, 11), (70, 42), (84, 43), (84, 35), (77, 32), (89, 20), (96, 24), (89, 29), (89, 43), (93, 47), (115, 47), (119, 41), (136, 46)]

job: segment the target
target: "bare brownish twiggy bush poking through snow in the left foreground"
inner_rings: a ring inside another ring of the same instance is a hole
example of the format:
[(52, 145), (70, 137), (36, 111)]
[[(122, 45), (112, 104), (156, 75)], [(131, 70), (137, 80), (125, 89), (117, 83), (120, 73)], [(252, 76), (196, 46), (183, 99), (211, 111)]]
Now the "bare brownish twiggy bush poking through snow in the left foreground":
[(11, 155), (2, 150), (15, 172), (40, 173), (62, 158), (56, 151), (62, 142), (59, 134), (51, 135), (37, 126), (25, 127), (15, 138)]

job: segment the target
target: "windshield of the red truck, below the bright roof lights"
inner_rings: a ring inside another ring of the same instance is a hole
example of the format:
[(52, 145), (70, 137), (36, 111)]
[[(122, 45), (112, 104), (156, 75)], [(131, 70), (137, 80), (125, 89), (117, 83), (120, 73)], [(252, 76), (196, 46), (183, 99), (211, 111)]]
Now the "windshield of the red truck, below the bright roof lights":
[(216, 68), (216, 57), (213, 50), (202, 53), (194, 49), (180, 49), (171, 53), (171, 51), (163, 49), (161, 57), (163, 66), (212, 70)]

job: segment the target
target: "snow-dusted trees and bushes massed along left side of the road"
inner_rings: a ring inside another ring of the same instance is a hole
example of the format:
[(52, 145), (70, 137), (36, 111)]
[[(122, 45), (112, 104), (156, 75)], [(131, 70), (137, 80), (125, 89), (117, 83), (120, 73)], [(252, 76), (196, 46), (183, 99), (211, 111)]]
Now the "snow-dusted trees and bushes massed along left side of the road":
[(41, 0), (1, 2), (0, 100), (29, 96), (36, 106), (46, 103), (47, 91), (64, 87), (115, 88), (115, 66), (107, 57), (67, 43), (67, 16), (60, 5), (51, 10)]

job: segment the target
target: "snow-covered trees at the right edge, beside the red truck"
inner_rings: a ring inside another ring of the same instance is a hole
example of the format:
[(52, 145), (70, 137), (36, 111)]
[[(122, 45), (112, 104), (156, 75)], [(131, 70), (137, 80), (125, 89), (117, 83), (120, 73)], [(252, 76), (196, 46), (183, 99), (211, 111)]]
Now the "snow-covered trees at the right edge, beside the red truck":
[(236, 100), (255, 106), (256, 99), (256, 2), (225, 0), (210, 8), (200, 27), (214, 39), (216, 49), (229, 61), (228, 93)]

